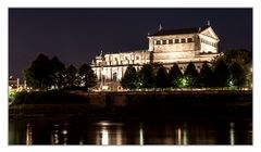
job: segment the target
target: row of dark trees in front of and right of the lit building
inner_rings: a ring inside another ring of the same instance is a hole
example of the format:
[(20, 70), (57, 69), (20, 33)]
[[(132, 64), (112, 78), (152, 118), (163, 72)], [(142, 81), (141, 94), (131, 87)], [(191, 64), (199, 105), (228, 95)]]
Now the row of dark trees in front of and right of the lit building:
[(151, 88), (251, 88), (252, 53), (248, 50), (227, 50), (211, 64), (204, 62), (198, 72), (189, 62), (182, 72), (177, 63), (167, 71), (162, 64), (145, 64), (140, 71), (129, 65), (121, 80), (125, 89)]

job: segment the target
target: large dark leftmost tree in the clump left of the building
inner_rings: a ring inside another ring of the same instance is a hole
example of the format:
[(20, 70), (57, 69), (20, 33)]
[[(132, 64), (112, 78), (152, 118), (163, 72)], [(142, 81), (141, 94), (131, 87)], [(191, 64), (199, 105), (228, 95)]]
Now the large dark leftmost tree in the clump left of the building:
[(51, 74), (49, 59), (42, 53), (33, 61), (29, 68), (24, 71), (27, 85), (39, 90), (47, 90), (52, 85)]

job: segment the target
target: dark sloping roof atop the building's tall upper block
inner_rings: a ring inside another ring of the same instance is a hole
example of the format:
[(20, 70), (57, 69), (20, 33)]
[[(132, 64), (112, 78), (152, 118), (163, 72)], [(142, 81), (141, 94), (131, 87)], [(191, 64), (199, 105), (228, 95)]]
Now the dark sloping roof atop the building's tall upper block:
[(197, 34), (201, 33), (210, 26), (203, 27), (192, 27), (192, 28), (179, 28), (179, 29), (161, 29), (158, 30), (156, 34), (149, 36), (167, 36), (167, 35), (181, 35), (181, 34)]

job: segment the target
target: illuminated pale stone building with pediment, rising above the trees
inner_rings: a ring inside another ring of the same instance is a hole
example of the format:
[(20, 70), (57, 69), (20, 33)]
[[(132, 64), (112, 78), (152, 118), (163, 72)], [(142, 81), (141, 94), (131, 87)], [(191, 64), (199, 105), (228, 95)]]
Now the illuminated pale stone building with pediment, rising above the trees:
[(101, 89), (119, 90), (120, 80), (128, 65), (139, 71), (142, 64), (161, 63), (166, 68), (178, 63), (182, 72), (189, 62), (199, 71), (203, 62), (211, 62), (217, 52), (219, 37), (208, 24), (203, 27), (163, 29), (148, 35), (149, 49), (130, 52), (108, 53), (96, 56), (91, 63)]

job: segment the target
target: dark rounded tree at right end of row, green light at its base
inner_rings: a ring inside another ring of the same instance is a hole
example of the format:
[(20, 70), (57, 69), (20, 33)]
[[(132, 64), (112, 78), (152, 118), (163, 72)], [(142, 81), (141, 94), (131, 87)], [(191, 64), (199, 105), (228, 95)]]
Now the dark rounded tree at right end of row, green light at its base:
[(244, 87), (246, 84), (246, 73), (244, 68), (236, 62), (232, 63), (229, 66), (231, 77), (228, 85), (229, 87)]

